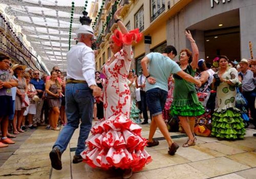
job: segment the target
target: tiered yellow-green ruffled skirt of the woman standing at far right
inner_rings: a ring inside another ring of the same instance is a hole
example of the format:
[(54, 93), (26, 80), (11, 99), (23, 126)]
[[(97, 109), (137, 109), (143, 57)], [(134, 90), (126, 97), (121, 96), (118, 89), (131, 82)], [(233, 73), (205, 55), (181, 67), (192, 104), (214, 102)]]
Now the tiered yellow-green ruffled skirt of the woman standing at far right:
[(212, 114), (211, 135), (224, 139), (244, 139), (245, 128), (241, 111), (237, 108), (216, 110)]

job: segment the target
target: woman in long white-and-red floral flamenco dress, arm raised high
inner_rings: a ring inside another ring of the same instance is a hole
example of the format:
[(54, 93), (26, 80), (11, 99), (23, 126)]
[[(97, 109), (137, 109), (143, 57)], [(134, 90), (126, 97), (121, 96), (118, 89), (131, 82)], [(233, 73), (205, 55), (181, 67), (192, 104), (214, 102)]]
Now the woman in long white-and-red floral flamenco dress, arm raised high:
[(132, 42), (138, 42), (142, 34), (138, 29), (128, 32), (118, 18), (122, 7), (114, 14), (120, 31), (110, 38), (114, 54), (103, 66), (106, 76), (103, 87), (104, 119), (92, 127), (87, 148), (81, 156), (91, 167), (120, 168), (123, 178), (130, 178), (134, 171), (142, 170), (151, 162), (144, 147), (147, 140), (141, 137), (141, 127), (130, 120), (131, 93), (127, 76), (133, 59)]

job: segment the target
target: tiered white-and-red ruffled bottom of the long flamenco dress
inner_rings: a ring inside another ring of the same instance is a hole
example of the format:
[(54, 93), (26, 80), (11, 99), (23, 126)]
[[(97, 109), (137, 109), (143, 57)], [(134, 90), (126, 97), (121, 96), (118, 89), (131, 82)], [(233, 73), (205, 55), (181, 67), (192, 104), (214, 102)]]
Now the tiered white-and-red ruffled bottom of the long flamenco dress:
[(101, 120), (91, 132), (88, 147), (81, 152), (83, 162), (91, 167), (139, 171), (152, 161), (144, 150), (147, 140), (141, 137), (141, 127), (123, 114)]

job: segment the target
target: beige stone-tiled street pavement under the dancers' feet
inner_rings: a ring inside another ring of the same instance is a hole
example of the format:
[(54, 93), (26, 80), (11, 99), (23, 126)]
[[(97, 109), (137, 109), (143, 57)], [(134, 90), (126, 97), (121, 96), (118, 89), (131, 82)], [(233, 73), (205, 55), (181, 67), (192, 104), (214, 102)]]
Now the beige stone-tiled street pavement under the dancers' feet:
[[(142, 125), (142, 136), (148, 137), (149, 125)], [(27, 136), (31, 136), (26, 140)], [(68, 149), (62, 154), (62, 170), (51, 168), (49, 152), (58, 131), (39, 128), (27, 131), (16, 139), (17, 144), (0, 149), (1, 178), (121, 178), (120, 171), (93, 169), (84, 163), (73, 164), (72, 159), (79, 132), (75, 131)], [(247, 129), (244, 140), (218, 141), (216, 138), (197, 137), (197, 145), (180, 147), (174, 156), (167, 154), (167, 143), (146, 150), (153, 161), (131, 178), (256, 178), (256, 130)], [(187, 140), (179, 132), (170, 132), (180, 146)], [(157, 131), (155, 137), (162, 137)], [(25, 141), (26, 140), (26, 141)], [(21, 144), (21, 145), (20, 145)], [(20, 146), (19, 146), (20, 145)], [(13, 151), (16, 150), (14, 153)], [(12, 154), (13, 153), (13, 154)]]

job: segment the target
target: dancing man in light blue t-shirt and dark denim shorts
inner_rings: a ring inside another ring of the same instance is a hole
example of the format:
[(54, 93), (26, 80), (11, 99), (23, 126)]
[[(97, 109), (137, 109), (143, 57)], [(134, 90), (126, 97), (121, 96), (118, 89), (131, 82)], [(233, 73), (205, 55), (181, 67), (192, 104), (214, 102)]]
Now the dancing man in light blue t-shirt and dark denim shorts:
[[(201, 82), (194, 77), (183, 72), (180, 66), (172, 59), (177, 55), (177, 50), (173, 46), (167, 46), (164, 53), (152, 52), (147, 54), (141, 60), (143, 75), (146, 77), (146, 102), (152, 115), (150, 125), (150, 134), (148, 136), (147, 147), (153, 147), (159, 144), (153, 137), (157, 127), (166, 139), (170, 155), (174, 155), (179, 145), (172, 141), (166, 124), (164, 123), (162, 110), (166, 101), (168, 92), (168, 77), (170, 74), (177, 74), (186, 81), (201, 86)], [(148, 68), (148, 70), (147, 70)]]

